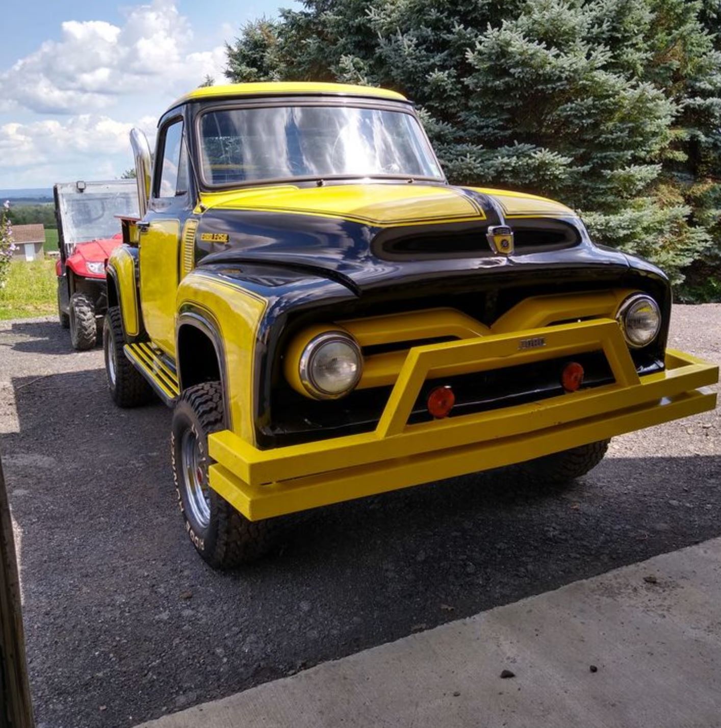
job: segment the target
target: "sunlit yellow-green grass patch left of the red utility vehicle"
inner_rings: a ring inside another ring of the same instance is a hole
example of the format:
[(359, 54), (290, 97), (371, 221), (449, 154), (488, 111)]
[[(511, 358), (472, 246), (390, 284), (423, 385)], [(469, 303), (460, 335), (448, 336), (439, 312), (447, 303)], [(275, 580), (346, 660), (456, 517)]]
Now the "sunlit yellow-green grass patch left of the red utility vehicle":
[(45, 316), (58, 309), (55, 261), (12, 261), (0, 288), (0, 320)]

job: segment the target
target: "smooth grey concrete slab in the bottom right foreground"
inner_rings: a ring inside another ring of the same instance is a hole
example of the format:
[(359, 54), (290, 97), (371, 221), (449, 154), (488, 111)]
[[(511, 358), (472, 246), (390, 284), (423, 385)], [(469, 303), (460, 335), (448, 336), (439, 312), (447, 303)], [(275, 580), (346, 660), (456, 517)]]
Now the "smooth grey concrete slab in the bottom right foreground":
[(144, 724), (198, 725), (721, 726), (721, 539)]

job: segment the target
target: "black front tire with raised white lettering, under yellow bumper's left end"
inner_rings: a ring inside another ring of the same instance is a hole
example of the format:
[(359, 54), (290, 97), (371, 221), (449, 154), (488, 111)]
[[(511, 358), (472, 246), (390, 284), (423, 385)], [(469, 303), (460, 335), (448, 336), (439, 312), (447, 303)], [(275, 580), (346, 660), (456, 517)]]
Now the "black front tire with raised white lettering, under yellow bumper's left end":
[(210, 520), (203, 526), (194, 518), (189, 507), (189, 494), (184, 484), (181, 442), (189, 428), (197, 438), (197, 446), (204, 458), (205, 483), (208, 467), (213, 460), (208, 456), (208, 435), (224, 427), (223, 390), (220, 382), (209, 381), (186, 389), (173, 411), (170, 435), (170, 456), (176, 483), (178, 506), (185, 521), (186, 532), (203, 559), (214, 569), (233, 569), (243, 563), (255, 561), (274, 545), (279, 519), (248, 521), (216, 491), (208, 488)]

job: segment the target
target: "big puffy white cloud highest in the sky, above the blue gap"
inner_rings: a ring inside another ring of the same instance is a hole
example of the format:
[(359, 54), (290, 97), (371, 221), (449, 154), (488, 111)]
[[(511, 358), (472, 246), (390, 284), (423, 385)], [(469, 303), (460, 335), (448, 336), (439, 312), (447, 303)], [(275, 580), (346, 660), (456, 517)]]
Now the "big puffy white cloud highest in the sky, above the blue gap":
[(179, 95), (206, 74), (220, 80), (224, 47), (198, 52), (192, 40), (190, 25), (173, 0), (130, 8), (122, 27), (68, 20), (59, 41), (45, 41), (0, 73), (2, 108), (93, 113), (114, 106), (120, 96)]

